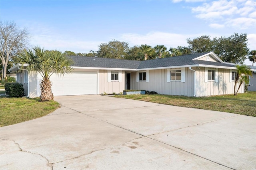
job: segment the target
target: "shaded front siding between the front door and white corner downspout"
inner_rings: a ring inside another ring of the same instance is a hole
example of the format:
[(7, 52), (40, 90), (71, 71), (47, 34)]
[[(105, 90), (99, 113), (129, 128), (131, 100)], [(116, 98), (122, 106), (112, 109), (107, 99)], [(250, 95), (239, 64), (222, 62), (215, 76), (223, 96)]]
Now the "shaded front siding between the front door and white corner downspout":
[[(175, 69), (174, 69), (175, 70)], [(176, 69), (177, 70), (177, 69)], [(158, 94), (193, 96), (194, 73), (185, 68), (185, 82), (167, 82), (167, 69), (149, 70), (149, 80), (136, 82), (136, 72), (131, 73), (131, 89), (149, 90)]]

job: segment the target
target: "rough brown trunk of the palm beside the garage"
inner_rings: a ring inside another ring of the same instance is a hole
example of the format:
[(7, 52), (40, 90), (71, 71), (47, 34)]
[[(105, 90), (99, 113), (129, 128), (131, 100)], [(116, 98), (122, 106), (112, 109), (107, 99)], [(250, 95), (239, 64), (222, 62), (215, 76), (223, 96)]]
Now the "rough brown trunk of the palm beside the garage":
[(54, 96), (52, 93), (52, 82), (49, 78), (44, 78), (40, 83), (41, 96), (40, 99), (42, 102), (53, 100)]

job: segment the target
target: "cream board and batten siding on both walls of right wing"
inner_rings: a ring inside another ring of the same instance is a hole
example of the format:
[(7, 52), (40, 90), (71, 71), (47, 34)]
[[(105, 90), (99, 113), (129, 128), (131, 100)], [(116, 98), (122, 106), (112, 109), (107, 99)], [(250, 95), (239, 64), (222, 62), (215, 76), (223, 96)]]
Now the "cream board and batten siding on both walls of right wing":
[[(234, 81), (230, 81), (230, 70), (218, 68), (217, 81), (205, 81), (205, 68), (192, 67), (196, 70), (196, 97), (213, 96), (222, 94), (234, 94)], [(209, 68), (210, 69), (210, 68)], [(149, 80), (136, 82), (136, 72), (131, 72), (131, 89), (155, 91), (158, 94), (193, 96), (194, 95), (194, 71), (185, 68), (185, 82), (167, 82), (167, 70), (149, 70)], [(173, 69), (177, 70), (177, 69)], [(208, 74), (207, 74), (208, 75)], [(244, 93), (242, 84), (239, 93)], [(238, 86), (237, 86), (238, 88)]]

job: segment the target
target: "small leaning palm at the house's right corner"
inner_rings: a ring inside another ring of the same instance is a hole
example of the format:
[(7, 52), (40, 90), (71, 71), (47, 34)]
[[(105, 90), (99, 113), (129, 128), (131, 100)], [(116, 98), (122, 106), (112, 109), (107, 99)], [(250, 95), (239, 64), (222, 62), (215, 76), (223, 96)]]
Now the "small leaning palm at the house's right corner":
[[(238, 90), (240, 89), (242, 83), (246, 81), (248, 76), (252, 76), (252, 71), (250, 70), (250, 67), (246, 65), (236, 65), (236, 79), (235, 79), (235, 86), (234, 86), (234, 95), (236, 96), (238, 93)], [(236, 84), (239, 82), (238, 89), (236, 91)]]

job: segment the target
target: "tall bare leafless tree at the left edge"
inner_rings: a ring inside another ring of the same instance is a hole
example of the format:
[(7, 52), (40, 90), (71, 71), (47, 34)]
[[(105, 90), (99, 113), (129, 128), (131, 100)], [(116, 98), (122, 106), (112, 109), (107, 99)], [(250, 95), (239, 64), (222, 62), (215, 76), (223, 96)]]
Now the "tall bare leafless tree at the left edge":
[(26, 29), (20, 29), (14, 22), (0, 21), (0, 57), (2, 61), (2, 80), (6, 78), (8, 62), (17, 52), (23, 50), (29, 38)]

